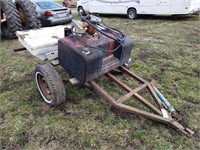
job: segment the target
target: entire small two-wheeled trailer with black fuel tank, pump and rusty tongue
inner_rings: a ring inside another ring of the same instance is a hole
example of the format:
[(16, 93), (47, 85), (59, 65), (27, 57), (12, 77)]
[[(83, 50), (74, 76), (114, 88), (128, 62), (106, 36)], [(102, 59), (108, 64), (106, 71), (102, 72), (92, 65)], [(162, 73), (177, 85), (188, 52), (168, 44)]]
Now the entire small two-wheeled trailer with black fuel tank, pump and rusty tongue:
[[(81, 22), (73, 20), (71, 26), (57, 26), (30, 31), (18, 31), (19, 41), (32, 55), (40, 60), (61, 65), (71, 76), (73, 83), (89, 84), (104, 96), (114, 107), (142, 117), (156, 120), (181, 131), (188, 137), (195, 133), (182, 126), (174, 118), (174, 108), (155, 87), (154, 81), (147, 82), (124, 67), (130, 60), (133, 42), (122, 32), (107, 27), (96, 16), (82, 17)], [(23, 49), (15, 49), (19, 51)], [(140, 85), (131, 88), (112, 73), (118, 69)], [(106, 76), (115, 85), (126, 91), (118, 99), (109, 95), (95, 79)], [(50, 64), (38, 65), (35, 69), (36, 84), (44, 102), (51, 106), (66, 100), (63, 82)], [(148, 89), (155, 105), (141, 96)], [(134, 99), (131, 99), (131, 98)], [(141, 110), (126, 102), (136, 100), (150, 111)]]

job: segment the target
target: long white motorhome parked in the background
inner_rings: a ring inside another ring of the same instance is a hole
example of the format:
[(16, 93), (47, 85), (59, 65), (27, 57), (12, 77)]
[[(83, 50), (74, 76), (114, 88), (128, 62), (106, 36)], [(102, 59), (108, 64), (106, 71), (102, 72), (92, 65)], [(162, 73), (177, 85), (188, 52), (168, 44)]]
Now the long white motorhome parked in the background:
[(123, 14), (135, 19), (139, 14), (199, 14), (200, 0), (79, 0), (77, 10), (99, 14)]

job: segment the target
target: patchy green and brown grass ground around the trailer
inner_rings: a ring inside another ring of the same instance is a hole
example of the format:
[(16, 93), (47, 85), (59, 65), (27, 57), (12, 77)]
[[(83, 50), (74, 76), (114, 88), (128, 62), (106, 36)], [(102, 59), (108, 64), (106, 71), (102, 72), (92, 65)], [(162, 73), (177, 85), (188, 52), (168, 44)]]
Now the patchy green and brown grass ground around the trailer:
[[(12, 49), (20, 47), (18, 40), (2, 39), (0, 149), (200, 149), (199, 17), (102, 19), (134, 41), (130, 70), (146, 80), (157, 80), (157, 87), (183, 116), (182, 122), (196, 131), (195, 137), (187, 138), (161, 123), (116, 110), (82, 85), (67, 83), (68, 101), (49, 108), (33, 78), (34, 67), (43, 62), (27, 51), (14, 53)], [(58, 70), (69, 78), (62, 68)], [(107, 89), (112, 87), (104, 79), (99, 82)], [(118, 96), (115, 91), (112, 94)]]

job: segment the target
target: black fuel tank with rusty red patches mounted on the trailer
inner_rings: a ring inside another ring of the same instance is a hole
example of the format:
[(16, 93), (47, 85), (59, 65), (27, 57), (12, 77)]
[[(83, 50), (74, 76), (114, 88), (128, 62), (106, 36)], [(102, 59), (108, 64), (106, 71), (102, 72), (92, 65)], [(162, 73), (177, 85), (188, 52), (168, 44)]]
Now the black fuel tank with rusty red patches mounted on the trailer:
[(58, 41), (59, 64), (81, 83), (86, 83), (128, 61), (133, 42), (126, 38), (119, 45), (101, 34), (98, 38), (80, 36), (78, 39), (70, 35)]

